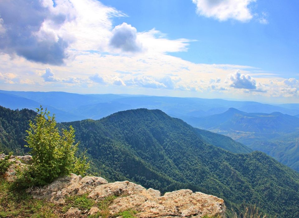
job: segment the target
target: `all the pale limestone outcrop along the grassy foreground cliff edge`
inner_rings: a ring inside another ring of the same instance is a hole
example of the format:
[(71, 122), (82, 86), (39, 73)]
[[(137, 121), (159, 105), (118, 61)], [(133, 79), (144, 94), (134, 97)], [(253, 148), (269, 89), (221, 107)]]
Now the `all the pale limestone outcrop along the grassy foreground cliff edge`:
[[(15, 167), (17, 164), (22, 164), (14, 162), (15, 164), (12, 165)], [(8, 171), (12, 172), (15, 167), (11, 166)], [(63, 204), (68, 196), (86, 193), (88, 198), (95, 201), (101, 201), (108, 196), (117, 196), (108, 208), (110, 215), (129, 209), (137, 211), (135, 216), (140, 218), (221, 216), (225, 212), (223, 199), (202, 192), (181, 189), (167, 192), (161, 196), (158, 190), (146, 189), (133, 182), (108, 183), (102, 177), (85, 176), (82, 178), (75, 174), (58, 178), (44, 187), (32, 187), (28, 189), (28, 192), (34, 198), (46, 199), (55, 204)], [(99, 209), (93, 207), (89, 214), (93, 214), (95, 211), (99, 211)], [(70, 208), (67, 214), (72, 213), (78, 215), (80, 211), (77, 208)]]

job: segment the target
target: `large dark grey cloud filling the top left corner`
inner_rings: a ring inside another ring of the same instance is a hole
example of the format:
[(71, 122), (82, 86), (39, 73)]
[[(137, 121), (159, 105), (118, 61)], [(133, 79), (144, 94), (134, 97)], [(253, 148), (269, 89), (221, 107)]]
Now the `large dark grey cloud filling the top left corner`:
[[(52, 2), (53, 3), (53, 2)], [(21, 13), (20, 13), (21, 11)], [(47, 31), (43, 23), (52, 19), (53, 24), (64, 22), (64, 17), (49, 17), (49, 9), (40, 1), (0, 1), (2, 34), (0, 50), (8, 54), (16, 53), (28, 60), (59, 65), (67, 57), (68, 42), (57, 34)], [(2, 30), (3, 32), (3, 30)], [(38, 34), (39, 33), (39, 34)], [(53, 34), (55, 35), (53, 37)]]

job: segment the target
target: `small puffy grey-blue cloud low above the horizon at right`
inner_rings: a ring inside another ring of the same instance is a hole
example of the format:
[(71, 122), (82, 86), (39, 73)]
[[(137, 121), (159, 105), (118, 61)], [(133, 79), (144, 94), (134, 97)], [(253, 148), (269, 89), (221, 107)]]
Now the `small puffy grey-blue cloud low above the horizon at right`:
[(236, 71), (235, 74), (229, 75), (230, 87), (244, 88), (244, 89), (256, 89), (256, 81), (251, 78), (249, 74), (241, 74), (240, 71)]

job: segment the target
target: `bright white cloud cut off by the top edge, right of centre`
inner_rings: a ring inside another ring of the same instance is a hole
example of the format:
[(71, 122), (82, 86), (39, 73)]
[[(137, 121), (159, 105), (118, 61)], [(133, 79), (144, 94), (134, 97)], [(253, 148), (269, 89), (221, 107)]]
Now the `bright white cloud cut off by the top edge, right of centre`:
[(196, 4), (196, 12), (205, 17), (213, 17), (219, 21), (235, 19), (246, 22), (253, 15), (249, 10), (249, 4), (256, 0), (192, 0)]

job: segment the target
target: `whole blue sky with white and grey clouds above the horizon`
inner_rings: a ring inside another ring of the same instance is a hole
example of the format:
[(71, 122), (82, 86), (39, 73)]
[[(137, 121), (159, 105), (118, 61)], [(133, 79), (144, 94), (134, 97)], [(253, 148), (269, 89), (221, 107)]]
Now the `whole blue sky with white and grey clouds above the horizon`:
[(1, 0), (0, 89), (299, 103), (299, 1)]

